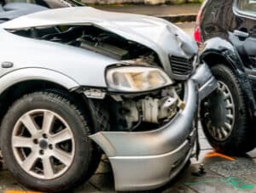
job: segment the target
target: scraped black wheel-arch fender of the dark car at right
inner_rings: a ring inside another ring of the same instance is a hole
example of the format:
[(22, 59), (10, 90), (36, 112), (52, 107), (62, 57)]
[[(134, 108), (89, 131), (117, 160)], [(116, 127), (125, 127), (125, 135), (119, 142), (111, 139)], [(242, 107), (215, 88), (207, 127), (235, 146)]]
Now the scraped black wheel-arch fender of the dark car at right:
[[(255, 120), (256, 117), (256, 102), (253, 97), (253, 89), (247, 77), (243, 62), (236, 50), (236, 48), (229, 43), (227, 40), (215, 37), (208, 40), (204, 43), (204, 48), (201, 49), (200, 58), (208, 65), (216, 65), (216, 62), (210, 61), (209, 58), (213, 56), (213, 60), (217, 59), (215, 57), (222, 58), (225, 60), (225, 64), (228, 65), (232, 71), (238, 77), (238, 82), (241, 85), (241, 90), (245, 97), (245, 102), (247, 105), (247, 109), (249, 111), (249, 115), (251, 116), (252, 121)], [(210, 63), (210, 64), (209, 64)]]

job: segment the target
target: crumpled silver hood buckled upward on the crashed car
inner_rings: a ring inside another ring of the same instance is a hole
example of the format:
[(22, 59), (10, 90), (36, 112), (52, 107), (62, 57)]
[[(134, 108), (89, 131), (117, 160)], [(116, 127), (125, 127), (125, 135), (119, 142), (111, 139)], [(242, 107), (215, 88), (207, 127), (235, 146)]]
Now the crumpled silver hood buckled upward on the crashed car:
[(153, 49), (167, 72), (171, 73), (169, 54), (190, 58), (197, 53), (195, 41), (166, 20), (140, 15), (106, 12), (90, 7), (49, 9), (10, 20), (6, 30), (40, 26), (93, 25)]

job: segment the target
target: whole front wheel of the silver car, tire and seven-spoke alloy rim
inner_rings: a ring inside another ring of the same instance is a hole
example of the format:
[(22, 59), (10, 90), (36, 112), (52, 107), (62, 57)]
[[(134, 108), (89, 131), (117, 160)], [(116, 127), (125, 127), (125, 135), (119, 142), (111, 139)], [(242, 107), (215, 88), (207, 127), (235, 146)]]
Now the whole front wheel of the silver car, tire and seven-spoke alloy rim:
[[(44, 124), (44, 117), (54, 122)], [(46, 91), (18, 99), (3, 118), (0, 136), (3, 158), (15, 179), (47, 192), (69, 190), (89, 179), (101, 153), (88, 137), (92, 128), (87, 122), (65, 94)]]

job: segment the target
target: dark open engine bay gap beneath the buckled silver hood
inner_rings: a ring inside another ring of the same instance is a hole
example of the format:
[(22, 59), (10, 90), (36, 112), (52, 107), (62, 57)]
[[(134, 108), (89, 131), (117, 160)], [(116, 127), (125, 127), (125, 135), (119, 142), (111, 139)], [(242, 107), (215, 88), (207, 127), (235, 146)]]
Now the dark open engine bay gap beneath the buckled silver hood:
[(23, 37), (84, 48), (107, 55), (115, 60), (141, 58), (147, 59), (149, 64), (159, 63), (157, 55), (150, 48), (128, 41), (124, 37), (104, 31), (96, 26), (50, 26), (12, 32)]

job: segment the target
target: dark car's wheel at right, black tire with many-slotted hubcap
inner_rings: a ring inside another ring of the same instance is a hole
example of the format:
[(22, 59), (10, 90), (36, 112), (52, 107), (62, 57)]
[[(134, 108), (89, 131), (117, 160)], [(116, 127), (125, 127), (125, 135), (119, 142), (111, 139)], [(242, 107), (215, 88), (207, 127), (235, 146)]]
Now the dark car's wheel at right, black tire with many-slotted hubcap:
[(201, 124), (215, 150), (228, 155), (243, 155), (253, 150), (253, 133), (241, 85), (225, 65), (214, 65), (212, 74), (218, 90), (201, 103)]

